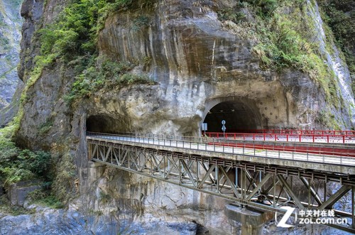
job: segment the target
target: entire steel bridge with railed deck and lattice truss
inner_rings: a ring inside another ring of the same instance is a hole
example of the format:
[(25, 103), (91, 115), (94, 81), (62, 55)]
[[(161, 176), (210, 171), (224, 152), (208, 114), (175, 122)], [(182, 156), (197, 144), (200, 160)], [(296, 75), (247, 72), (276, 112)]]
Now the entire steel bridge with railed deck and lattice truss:
[[(355, 233), (355, 145), (87, 132), (88, 157), (245, 207), (334, 209)], [(331, 189), (329, 189), (331, 188)], [(315, 218), (310, 218), (315, 219)]]

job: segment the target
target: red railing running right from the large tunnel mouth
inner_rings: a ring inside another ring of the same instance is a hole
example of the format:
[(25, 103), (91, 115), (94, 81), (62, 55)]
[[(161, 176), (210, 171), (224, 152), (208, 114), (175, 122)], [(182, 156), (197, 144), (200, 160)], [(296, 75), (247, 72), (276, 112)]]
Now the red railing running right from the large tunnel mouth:
[(206, 132), (211, 138), (230, 138), (243, 141), (285, 141), (312, 143), (355, 143), (355, 135), (308, 133), (219, 133)]

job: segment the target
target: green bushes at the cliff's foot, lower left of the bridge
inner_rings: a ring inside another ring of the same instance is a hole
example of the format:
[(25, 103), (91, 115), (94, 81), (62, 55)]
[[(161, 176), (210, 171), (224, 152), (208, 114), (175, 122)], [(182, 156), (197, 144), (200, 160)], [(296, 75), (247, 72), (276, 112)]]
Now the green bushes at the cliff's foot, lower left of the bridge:
[[(30, 151), (15, 146), (11, 141), (13, 126), (0, 130), (0, 189), (7, 190), (13, 183), (40, 179), (42, 188), (28, 195), (28, 199), (48, 207), (61, 208), (71, 196), (70, 190), (75, 175), (69, 155), (58, 158), (45, 151)], [(59, 168), (59, 170), (55, 170)], [(0, 211), (6, 214), (27, 214), (22, 207), (10, 207), (5, 197), (0, 197)]]

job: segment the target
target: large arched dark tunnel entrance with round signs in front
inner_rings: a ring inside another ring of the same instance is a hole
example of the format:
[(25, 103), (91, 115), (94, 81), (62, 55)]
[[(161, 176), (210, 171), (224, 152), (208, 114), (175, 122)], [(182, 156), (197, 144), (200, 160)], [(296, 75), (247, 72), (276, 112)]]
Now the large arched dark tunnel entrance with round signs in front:
[(261, 118), (252, 102), (226, 101), (214, 105), (207, 111), (204, 123), (208, 132), (222, 132), (222, 120), (226, 121), (226, 132), (246, 132), (261, 129)]

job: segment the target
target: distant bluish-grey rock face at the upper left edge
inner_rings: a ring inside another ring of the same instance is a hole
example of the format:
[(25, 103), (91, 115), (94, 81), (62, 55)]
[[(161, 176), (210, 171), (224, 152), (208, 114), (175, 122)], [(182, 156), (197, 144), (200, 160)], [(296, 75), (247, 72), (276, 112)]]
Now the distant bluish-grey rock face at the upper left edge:
[(21, 24), (21, 1), (0, 3), (0, 109), (9, 105), (18, 83)]

